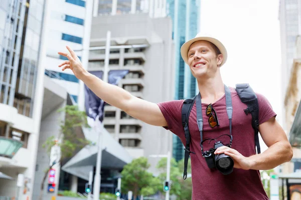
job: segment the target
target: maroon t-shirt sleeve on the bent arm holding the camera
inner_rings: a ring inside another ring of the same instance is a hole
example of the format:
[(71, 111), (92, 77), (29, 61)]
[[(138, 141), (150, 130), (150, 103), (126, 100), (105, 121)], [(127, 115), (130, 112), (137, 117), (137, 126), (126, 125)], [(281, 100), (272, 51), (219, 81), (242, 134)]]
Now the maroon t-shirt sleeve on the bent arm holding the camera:
[(267, 98), (259, 93), (256, 93), (259, 104), (259, 124), (264, 123), (271, 117), (276, 117), (276, 112), (273, 110)]

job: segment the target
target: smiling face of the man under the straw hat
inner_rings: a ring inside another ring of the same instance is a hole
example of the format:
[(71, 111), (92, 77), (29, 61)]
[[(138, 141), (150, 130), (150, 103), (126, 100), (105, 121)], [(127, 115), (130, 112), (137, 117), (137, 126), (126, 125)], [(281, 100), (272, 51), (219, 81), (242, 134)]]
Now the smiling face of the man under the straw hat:
[(217, 55), (213, 44), (206, 40), (195, 41), (188, 51), (188, 64), (194, 77), (212, 77), (222, 63), (223, 55)]

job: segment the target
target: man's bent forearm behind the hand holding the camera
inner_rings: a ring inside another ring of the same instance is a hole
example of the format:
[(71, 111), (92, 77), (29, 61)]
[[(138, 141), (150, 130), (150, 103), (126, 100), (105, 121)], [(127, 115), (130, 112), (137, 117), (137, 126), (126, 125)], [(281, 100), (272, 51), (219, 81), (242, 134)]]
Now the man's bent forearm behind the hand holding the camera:
[(287, 141), (278, 141), (266, 149), (263, 153), (252, 155), (249, 158), (250, 169), (268, 170), (284, 162), (288, 162), (292, 157), (290, 144)]

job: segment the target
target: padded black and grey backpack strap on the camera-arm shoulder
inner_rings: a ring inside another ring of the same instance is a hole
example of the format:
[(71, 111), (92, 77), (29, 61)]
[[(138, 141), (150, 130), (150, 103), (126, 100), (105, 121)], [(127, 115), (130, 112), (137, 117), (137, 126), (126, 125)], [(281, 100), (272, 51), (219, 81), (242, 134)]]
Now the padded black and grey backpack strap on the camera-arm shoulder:
[(259, 126), (259, 105), (258, 99), (248, 83), (236, 84), (236, 91), (240, 97), (241, 102), (247, 104), (247, 108), (244, 109), (246, 114), (251, 113), (252, 115), (252, 127), (254, 129), (254, 139), (257, 147), (257, 153), (260, 153), (260, 144), (258, 137), (258, 126)]

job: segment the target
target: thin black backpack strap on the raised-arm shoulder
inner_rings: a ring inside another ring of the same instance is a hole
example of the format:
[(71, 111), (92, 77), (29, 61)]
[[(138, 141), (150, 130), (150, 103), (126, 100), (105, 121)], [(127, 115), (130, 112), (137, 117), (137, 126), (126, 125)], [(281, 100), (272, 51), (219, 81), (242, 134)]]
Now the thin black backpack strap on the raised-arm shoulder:
[(194, 153), (190, 151), (190, 133), (188, 128), (188, 121), (189, 121), (189, 114), (191, 112), (191, 109), (193, 107), (193, 104), (195, 102), (196, 96), (194, 98), (188, 98), (184, 101), (183, 107), (182, 107), (182, 125), (184, 127), (185, 131), (185, 139), (186, 139), (186, 145), (185, 145), (185, 158), (184, 158), (184, 174), (183, 178), (187, 178), (187, 166), (188, 166), (188, 159), (190, 153)]

